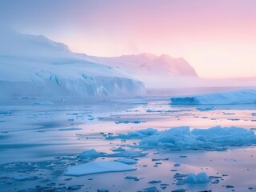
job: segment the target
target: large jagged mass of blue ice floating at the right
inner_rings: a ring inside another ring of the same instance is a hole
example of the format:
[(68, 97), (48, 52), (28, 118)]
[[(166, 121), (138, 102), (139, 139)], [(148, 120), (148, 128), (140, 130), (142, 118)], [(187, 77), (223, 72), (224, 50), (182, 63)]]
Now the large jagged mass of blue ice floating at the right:
[[(147, 129), (148, 130), (148, 129)], [(147, 131), (146, 131), (147, 132)], [(134, 138), (143, 130), (123, 134), (121, 138)], [(144, 134), (138, 145), (140, 148), (169, 147), (179, 150), (227, 150), (226, 146), (244, 146), (256, 144), (253, 130), (239, 127), (215, 126), (209, 129), (193, 129), (181, 126), (164, 131), (152, 131)]]

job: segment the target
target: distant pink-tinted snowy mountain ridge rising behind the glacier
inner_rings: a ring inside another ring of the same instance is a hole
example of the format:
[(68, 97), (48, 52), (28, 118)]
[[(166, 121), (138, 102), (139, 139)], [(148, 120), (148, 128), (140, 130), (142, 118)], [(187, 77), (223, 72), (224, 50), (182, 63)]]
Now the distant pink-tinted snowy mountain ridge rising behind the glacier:
[(184, 58), (173, 58), (168, 54), (137, 54), (123, 55), (120, 57), (90, 57), (110, 66), (120, 67), (132, 74), (154, 74), (169, 77), (197, 77), (197, 72)]

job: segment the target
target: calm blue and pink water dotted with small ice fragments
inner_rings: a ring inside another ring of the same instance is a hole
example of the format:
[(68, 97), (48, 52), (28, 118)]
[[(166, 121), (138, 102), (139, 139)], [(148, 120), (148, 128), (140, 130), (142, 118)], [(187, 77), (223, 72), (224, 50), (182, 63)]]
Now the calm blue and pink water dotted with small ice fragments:
[[(139, 139), (106, 139), (106, 135), (149, 127), (167, 130), (176, 126), (238, 126), (250, 130), (256, 128), (254, 105), (171, 106), (169, 97), (13, 98), (2, 99), (0, 104), (1, 192), (144, 191), (153, 186), (159, 191), (256, 191), (254, 145), (229, 146), (224, 151), (142, 150), (133, 147)], [(118, 159), (79, 158), (83, 151), (95, 149), (113, 154), (119, 147), (147, 154), (135, 158), (137, 163), (131, 166), (137, 170), (64, 175), (70, 166)], [(175, 163), (181, 166), (174, 166)], [(184, 184), (175, 177), (177, 173), (201, 171), (219, 182)], [(157, 182), (148, 183), (151, 181)]]

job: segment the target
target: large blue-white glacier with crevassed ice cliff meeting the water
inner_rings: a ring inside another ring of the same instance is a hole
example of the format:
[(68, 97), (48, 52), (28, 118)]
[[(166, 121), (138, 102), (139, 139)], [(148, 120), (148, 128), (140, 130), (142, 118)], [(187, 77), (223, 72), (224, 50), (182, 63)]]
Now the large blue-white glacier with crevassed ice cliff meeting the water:
[(124, 71), (43, 35), (0, 30), (0, 96), (140, 95), (144, 84)]

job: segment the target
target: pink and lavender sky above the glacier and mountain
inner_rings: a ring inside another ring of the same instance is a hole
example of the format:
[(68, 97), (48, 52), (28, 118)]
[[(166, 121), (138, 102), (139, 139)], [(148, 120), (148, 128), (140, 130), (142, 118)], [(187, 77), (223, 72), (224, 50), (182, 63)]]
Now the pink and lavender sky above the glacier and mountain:
[(255, 0), (24, 2), (10, 19), (14, 26), (76, 52), (169, 54), (188, 60), (201, 77), (256, 76)]

